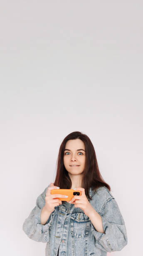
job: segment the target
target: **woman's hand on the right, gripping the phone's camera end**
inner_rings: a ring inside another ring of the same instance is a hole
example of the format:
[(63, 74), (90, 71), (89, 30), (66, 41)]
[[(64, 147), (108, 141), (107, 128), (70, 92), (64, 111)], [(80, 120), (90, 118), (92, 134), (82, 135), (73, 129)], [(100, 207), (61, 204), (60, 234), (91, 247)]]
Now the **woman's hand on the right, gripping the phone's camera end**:
[[(74, 204), (74, 207), (79, 207), (81, 208), (84, 213), (89, 216), (89, 213), (91, 213), (91, 210), (93, 210), (93, 207), (91, 206), (89, 200), (87, 199), (86, 195), (85, 195), (85, 189), (83, 187), (77, 187), (75, 191), (81, 191), (81, 195), (75, 195), (72, 200), (71, 200), (71, 204)], [(67, 201), (69, 202), (69, 201)]]

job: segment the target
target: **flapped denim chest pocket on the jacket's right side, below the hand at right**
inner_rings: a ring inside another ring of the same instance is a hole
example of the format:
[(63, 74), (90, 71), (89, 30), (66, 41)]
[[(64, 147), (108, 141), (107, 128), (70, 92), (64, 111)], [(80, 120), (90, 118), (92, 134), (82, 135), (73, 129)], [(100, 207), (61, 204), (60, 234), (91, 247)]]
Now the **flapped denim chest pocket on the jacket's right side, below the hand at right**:
[(72, 213), (71, 234), (74, 238), (84, 238), (89, 233), (90, 219), (84, 212)]

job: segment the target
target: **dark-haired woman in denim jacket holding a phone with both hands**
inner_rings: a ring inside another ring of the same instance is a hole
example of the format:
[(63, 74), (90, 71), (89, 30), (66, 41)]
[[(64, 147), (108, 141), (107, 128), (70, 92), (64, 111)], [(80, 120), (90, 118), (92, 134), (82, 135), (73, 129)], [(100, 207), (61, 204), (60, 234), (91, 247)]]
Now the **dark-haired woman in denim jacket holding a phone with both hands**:
[[(71, 202), (51, 195), (52, 189), (76, 189)], [(59, 148), (57, 175), (37, 197), (23, 223), (29, 238), (47, 243), (46, 256), (106, 256), (127, 244), (125, 222), (110, 186), (99, 172), (88, 136), (73, 132)]]

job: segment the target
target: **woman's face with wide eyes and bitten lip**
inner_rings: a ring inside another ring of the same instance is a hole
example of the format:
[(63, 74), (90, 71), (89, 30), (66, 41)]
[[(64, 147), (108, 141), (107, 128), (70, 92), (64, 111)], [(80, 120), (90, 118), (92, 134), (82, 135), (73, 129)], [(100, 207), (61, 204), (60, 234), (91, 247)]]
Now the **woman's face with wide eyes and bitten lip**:
[[(85, 166), (85, 146), (80, 139), (69, 140), (64, 150), (64, 166), (70, 174), (81, 174)], [(80, 149), (80, 150), (79, 150)], [(77, 165), (77, 166), (71, 166)]]

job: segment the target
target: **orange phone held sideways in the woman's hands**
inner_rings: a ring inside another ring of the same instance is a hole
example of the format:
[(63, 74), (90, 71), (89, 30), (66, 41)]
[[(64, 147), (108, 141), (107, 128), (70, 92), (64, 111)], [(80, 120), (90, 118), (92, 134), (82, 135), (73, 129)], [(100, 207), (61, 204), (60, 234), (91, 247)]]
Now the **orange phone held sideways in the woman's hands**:
[(68, 197), (56, 197), (55, 199), (59, 199), (61, 201), (70, 201), (72, 200), (72, 197), (74, 195), (81, 195), (81, 191), (79, 190), (74, 190), (74, 189), (52, 189), (51, 190), (51, 195), (53, 194), (62, 194), (62, 195), (67, 195)]

